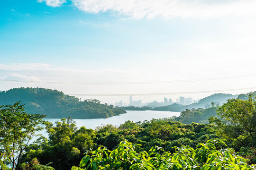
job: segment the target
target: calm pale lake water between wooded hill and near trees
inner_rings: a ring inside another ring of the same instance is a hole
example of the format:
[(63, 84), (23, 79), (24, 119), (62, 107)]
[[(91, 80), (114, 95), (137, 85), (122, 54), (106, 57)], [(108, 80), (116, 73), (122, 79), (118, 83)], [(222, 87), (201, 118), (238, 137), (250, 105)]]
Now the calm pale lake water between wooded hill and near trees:
[[(146, 110), (146, 111), (133, 111), (133, 110), (127, 110), (127, 113), (121, 114), (119, 116), (113, 116), (110, 118), (101, 118), (101, 119), (74, 119), (75, 124), (77, 127), (86, 127), (86, 128), (92, 128), (95, 129), (95, 127), (106, 125), (106, 124), (112, 124), (114, 126), (119, 126), (126, 121), (130, 120), (133, 122), (138, 121), (144, 121), (144, 120), (151, 120), (153, 118), (159, 119), (159, 118), (169, 118), (173, 116), (180, 116), (180, 112), (173, 112), (173, 111), (154, 111), (154, 110)], [(45, 119), (47, 121), (50, 121), (52, 123), (55, 123), (56, 121), (61, 121), (61, 119)], [(46, 130), (40, 131), (37, 134), (42, 134), (43, 136), (47, 137)], [(35, 141), (36, 138), (33, 138), (33, 141)]]

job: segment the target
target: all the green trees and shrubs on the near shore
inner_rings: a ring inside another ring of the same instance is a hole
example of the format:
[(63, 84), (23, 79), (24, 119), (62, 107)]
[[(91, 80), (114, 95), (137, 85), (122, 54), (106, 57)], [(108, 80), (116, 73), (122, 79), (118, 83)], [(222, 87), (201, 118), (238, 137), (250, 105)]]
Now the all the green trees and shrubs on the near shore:
[[(19, 103), (1, 106), (1, 170), (255, 170), (256, 101), (251, 93), (246, 100), (184, 110), (177, 118), (94, 130), (76, 127), (71, 118), (52, 124), (43, 117), (27, 114)], [(49, 137), (28, 144), (42, 123)]]

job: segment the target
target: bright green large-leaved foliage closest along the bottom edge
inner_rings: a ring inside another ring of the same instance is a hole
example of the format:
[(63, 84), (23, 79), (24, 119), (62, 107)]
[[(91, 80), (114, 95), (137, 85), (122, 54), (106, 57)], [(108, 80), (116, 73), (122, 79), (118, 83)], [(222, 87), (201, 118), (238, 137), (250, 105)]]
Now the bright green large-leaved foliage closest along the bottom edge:
[(80, 167), (72, 170), (253, 170), (247, 160), (225, 147), (220, 139), (208, 140), (190, 146), (175, 147), (174, 153), (165, 152), (161, 147), (152, 147), (149, 152), (137, 152), (136, 144), (121, 141), (116, 149), (108, 150), (100, 146), (89, 151), (82, 158)]

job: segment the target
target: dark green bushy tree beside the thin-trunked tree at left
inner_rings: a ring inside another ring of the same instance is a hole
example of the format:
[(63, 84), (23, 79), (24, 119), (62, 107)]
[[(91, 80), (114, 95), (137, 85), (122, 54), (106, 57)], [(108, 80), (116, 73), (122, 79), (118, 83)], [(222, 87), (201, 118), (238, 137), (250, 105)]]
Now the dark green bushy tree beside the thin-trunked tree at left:
[(52, 162), (51, 166), (56, 170), (70, 170), (79, 163), (82, 153), (93, 146), (92, 139), (95, 137), (92, 129), (77, 129), (74, 123), (70, 118), (62, 119), (55, 125), (46, 122), (49, 139), (40, 138), (30, 144), (21, 161), (29, 162), (37, 157), (42, 164)]

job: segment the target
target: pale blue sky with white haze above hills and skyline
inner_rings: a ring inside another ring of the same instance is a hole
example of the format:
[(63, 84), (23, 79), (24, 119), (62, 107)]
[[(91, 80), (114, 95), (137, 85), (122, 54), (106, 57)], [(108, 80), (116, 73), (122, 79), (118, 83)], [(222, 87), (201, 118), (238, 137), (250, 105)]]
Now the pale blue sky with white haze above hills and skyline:
[[(255, 6), (255, 0), (0, 0), (0, 90), (24, 86), (65, 94), (254, 91)], [(191, 79), (207, 80), (175, 82)], [(129, 83), (152, 81), (174, 82)], [(175, 101), (212, 93), (133, 99)], [(129, 101), (128, 96), (76, 96), (110, 104)]]

